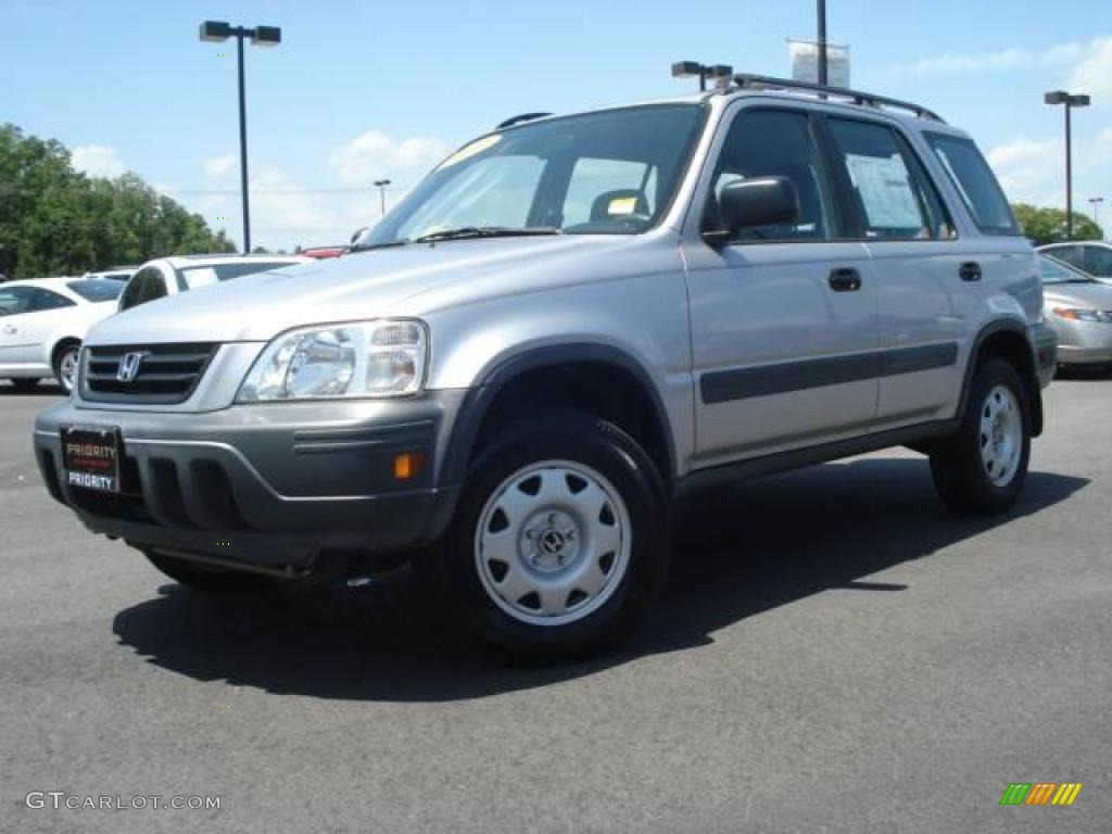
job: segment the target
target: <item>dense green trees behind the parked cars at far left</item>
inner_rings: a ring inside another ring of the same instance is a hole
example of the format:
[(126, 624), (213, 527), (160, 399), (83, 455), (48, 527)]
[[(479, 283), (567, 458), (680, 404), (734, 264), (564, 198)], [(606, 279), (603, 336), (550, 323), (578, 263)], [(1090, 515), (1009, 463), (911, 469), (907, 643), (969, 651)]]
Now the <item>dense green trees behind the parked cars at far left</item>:
[(135, 173), (73, 170), (60, 142), (0, 126), (0, 271), (73, 275), (167, 255), (231, 252), (224, 230), (157, 193)]

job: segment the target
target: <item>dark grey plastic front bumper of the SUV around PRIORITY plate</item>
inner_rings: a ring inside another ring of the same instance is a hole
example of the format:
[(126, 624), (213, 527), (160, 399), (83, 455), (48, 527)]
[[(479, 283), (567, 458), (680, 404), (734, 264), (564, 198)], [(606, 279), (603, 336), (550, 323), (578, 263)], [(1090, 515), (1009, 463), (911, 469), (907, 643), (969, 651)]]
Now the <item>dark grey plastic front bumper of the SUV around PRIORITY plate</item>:
[[(36, 420), (36, 459), (50, 494), (95, 533), (305, 569), (326, 553), (396, 553), (440, 536), (458, 495), (443, 463), (465, 394), (201, 414), (67, 401)], [(62, 426), (119, 428), (119, 495), (67, 485)], [(394, 474), (401, 453), (424, 461), (404, 480)]]

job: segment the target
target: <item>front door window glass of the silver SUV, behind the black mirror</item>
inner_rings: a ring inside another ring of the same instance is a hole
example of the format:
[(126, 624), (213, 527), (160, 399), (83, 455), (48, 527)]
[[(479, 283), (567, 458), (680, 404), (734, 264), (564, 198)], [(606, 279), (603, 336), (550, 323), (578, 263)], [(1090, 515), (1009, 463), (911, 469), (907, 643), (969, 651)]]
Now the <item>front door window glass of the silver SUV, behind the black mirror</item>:
[(717, 226), (723, 188), (758, 177), (790, 179), (800, 197), (800, 216), (794, 224), (741, 229), (738, 240), (821, 240), (833, 236), (830, 192), (806, 115), (757, 110), (734, 120), (718, 158), (706, 226)]

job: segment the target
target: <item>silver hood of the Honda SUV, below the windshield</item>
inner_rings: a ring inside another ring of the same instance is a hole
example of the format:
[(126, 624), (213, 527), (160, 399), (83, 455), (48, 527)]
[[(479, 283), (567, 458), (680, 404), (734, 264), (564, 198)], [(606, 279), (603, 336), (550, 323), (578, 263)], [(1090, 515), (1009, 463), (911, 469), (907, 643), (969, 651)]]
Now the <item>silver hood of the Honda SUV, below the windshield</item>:
[[(403, 301), (423, 294), (449, 296), (453, 305), (475, 300), (513, 274), (514, 288), (588, 259), (600, 251), (635, 245), (633, 236), (568, 235), (443, 241), (354, 252), (332, 260), (256, 272), (224, 284), (180, 292), (133, 307), (100, 322), (90, 345), (175, 341), (265, 341), (302, 325), (353, 321), (390, 315), (421, 315), (421, 305)], [(433, 292), (470, 284), (474, 292)]]

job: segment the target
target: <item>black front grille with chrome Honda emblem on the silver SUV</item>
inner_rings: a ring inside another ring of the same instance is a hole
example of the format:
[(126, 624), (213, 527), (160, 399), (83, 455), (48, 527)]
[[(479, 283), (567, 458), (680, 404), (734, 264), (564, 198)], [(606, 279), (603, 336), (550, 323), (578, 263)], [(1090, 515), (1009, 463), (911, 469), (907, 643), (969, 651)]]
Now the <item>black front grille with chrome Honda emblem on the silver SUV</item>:
[(87, 347), (79, 381), (81, 397), (99, 403), (183, 403), (193, 393), (217, 347), (196, 342)]

